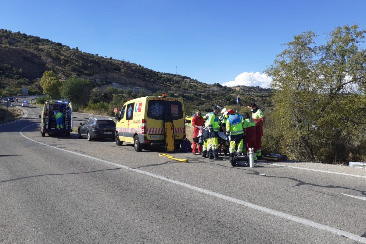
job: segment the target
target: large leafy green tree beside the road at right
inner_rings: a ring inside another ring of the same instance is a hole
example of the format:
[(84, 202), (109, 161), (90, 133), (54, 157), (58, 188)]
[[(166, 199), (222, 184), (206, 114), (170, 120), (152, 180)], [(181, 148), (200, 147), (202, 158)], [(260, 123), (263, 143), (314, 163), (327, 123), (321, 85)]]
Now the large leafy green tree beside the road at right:
[(336, 27), (317, 46), (317, 35), (304, 32), (265, 71), (278, 89), (272, 130), (282, 153), (345, 162), (365, 146), (366, 51), (359, 47), (364, 34), (358, 25)]

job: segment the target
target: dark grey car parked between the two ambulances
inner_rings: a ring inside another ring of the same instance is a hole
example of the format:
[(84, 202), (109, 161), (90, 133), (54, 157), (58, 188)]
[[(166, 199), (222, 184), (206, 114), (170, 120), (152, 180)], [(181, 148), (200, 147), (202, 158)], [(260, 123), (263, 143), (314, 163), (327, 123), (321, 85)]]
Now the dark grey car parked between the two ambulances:
[(101, 138), (111, 138), (115, 140), (116, 123), (109, 119), (89, 118), (78, 128), (78, 138), (86, 137), (88, 141)]

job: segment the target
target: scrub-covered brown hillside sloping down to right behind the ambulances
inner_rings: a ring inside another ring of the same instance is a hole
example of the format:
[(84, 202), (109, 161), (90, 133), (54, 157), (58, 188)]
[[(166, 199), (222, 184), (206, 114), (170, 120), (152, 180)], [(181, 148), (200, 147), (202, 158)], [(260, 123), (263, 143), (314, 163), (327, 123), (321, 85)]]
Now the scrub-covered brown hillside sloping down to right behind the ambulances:
[[(39, 80), (46, 70), (53, 70), (60, 80), (71, 75), (93, 81), (97, 90), (108, 86), (132, 90), (137, 94), (166, 92), (183, 97), (188, 110), (201, 107), (211, 110), (214, 105), (235, 105), (236, 94), (264, 108), (270, 107), (272, 90), (250, 87), (233, 89), (219, 83), (208, 85), (187, 76), (150, 70), (141, 65), (112, 57), (86, 53), (33, 35), (0, 29), (0, 91), (15, 94), (20, 87), (31, 93), (41, 93)], [(103, 96), (101, 101), (109, 102)], [(98, 102), (94, 99), (94, 102)]]

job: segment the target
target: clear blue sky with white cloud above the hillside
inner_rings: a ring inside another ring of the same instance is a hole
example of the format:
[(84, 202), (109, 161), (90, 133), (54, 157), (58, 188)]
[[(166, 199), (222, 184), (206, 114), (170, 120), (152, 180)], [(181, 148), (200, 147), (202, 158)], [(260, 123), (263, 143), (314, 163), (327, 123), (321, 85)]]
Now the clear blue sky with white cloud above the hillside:
[[(205, 83), (268, 86), (294, 35), (360, 23), (366, 1), (4, 1), (0, 28)], [(365, 45), (362, 44), (365, 48)], [(237, 78), (237, 79), (235, 79)]]

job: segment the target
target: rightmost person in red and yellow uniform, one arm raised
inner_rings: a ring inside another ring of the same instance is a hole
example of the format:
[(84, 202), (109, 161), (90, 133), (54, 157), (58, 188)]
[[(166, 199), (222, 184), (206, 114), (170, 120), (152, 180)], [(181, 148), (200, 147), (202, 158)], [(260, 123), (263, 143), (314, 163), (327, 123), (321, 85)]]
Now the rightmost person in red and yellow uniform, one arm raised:
[(246, 102), (243, 102), (239, 97), (238, 97), (238, 102), (240, 102), (244, 106), (247, 106), (247, 108), (249, 108), (250, 111), (252, 112), (252, 119), (255, 122), (255, 141), (256, 141), (255, 146), (257, 148), (257, 150), (255, 150), (254, 153), (257, 153), (257, 156), (261, 157), (263, 124), (266, 121), (264, 118), (264, 114), (263, 114), (262, 110), (258, 108), (257, 104), (249, 105)]

